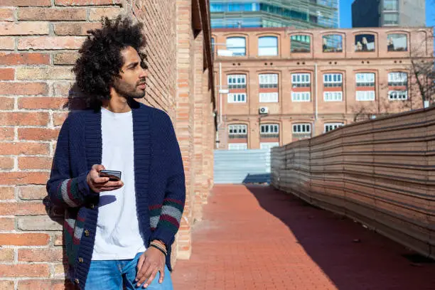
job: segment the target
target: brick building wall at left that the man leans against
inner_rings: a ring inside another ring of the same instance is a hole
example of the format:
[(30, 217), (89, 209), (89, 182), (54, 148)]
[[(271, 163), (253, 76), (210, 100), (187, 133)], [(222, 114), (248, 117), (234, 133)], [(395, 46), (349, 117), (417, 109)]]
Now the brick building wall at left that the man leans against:
[(190, 256), (190, 227), (213, 186), (215, 106), (207, 0), (0, 0), (0, 289), (62, 289), (62, 218), (45, 183), (77, 49), (102, 16), (145, 23), (146, 104), (171, 116), (187, 199), (174, 255)]

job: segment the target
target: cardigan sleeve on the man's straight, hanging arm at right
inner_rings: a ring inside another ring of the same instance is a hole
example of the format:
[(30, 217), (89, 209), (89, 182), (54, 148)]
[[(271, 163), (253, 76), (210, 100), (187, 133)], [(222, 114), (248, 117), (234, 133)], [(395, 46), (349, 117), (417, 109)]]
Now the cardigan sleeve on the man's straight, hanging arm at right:
[(186, 201), (186, 181), (180, 146), (171, 119), (166, 113), (163, 117), (163, 123), (165, 138), (161, 140), (163, 142), (161, 145), (166, 148), (167, 160), (165, 164), (168, 166), (168, 176), (159, 222), (156, 230), (151, 233), (151, 240), (161, 240), (165, 245), (171, 245), (183, 215)]

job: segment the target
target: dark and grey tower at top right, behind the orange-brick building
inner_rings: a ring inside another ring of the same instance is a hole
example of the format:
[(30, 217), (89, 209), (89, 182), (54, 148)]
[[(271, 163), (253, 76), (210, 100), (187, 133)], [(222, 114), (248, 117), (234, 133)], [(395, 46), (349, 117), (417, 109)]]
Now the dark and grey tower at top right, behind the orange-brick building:
[(352, 26), (355, 28), (425, 25), (425, 0), (355, 0), (352, 4)]

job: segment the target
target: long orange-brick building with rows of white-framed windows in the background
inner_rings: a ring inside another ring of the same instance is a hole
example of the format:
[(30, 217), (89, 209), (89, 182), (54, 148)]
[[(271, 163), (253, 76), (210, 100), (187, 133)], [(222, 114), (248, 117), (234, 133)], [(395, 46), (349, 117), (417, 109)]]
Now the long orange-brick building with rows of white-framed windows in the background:
[(220, 28), (218, 149), (259, 149), (363, 117), (420, 108), (411, 60), (433, 61), (432, 28)]

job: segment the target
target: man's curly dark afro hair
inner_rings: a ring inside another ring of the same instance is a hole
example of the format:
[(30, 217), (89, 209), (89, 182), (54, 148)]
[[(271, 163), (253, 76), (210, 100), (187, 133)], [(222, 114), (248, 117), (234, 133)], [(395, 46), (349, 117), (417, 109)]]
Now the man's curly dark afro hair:
[(142, 52), (146, 45), (143, 26), (139, 21), (133, 23), (131, 18), (119, 15), (113, 20), (102, 18), (102, 28), (87, 31), (91, 35), (79, 50), (73, 72), (88, 107), (97, 109), (103, 100), (110, 100), (109, 87), (124, 65), (121, 55), (124, 48), (134, 48), (141, 58), (141, 67), (147, 68), (146, 55)]

